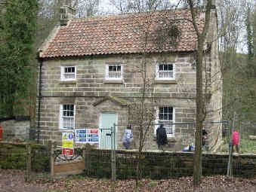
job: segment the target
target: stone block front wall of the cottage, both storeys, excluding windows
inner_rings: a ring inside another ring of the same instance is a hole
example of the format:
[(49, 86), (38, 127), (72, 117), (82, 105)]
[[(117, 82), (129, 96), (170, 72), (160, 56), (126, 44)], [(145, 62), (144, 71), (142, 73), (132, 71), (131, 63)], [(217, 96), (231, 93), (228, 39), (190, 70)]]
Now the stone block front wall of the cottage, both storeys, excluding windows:
[[(168, 105), (175, 108), (175, 122), (194, 122), (196, 114), (196, 66), (191, 53), (180, 54), (151, 54), (147, 56), (147, 75), (154, 81), (153, 96), (156, 106)], [(175, 66), (174, 81), (157, 81), (156, 64), (171, 62)], [(121, 63), (123, 65), (123, 81), (106, 81), (106, 64)], [(42, 65), (42, 99), (40, 128), (41, 139), (45, 143), (48, 139), (60, 141), (59, 118), (61, 104), (76, 105), (76, 128), (98, 128), (101, 112), (116, 112), (118, 148), (122, 146), (122, 134), (128, 123), (128, 108), (111, 101), (102, 102), (94, 106), (106, 96), (121, 98), (127, 102), (134, 102), (140, 96), (142, 87), (141, 55), (113, 55), (113, 56), (85, 56), (79, 59), (48, 59)], [(61, 66), (76, 66), (76, 81), (60, 81)], [(150, 93), (146, 94), (147, 99)], [(215, 98), (216, 96), (214, 96)], [(217, 99), (217, 98), (216, 98)], [(214, 102), (213, 102), (214, 103)], [(36, 117), (37, 120), (37, 117)], [(167, 150), (179, 151), (193, 141), (194, 125), (175, 125), (175, 137), (169, 139)], [(209, 127), (211, 129), (211, 127)], [(50, 130), (50, 131), (47, 131)], [(156, 147), (153, 133), (149, 133), (146, 141), (147, 149)], [(138, 133), (134, 130), (134, 138)], [(138, 147), (134, 139), (133, 148)]]

